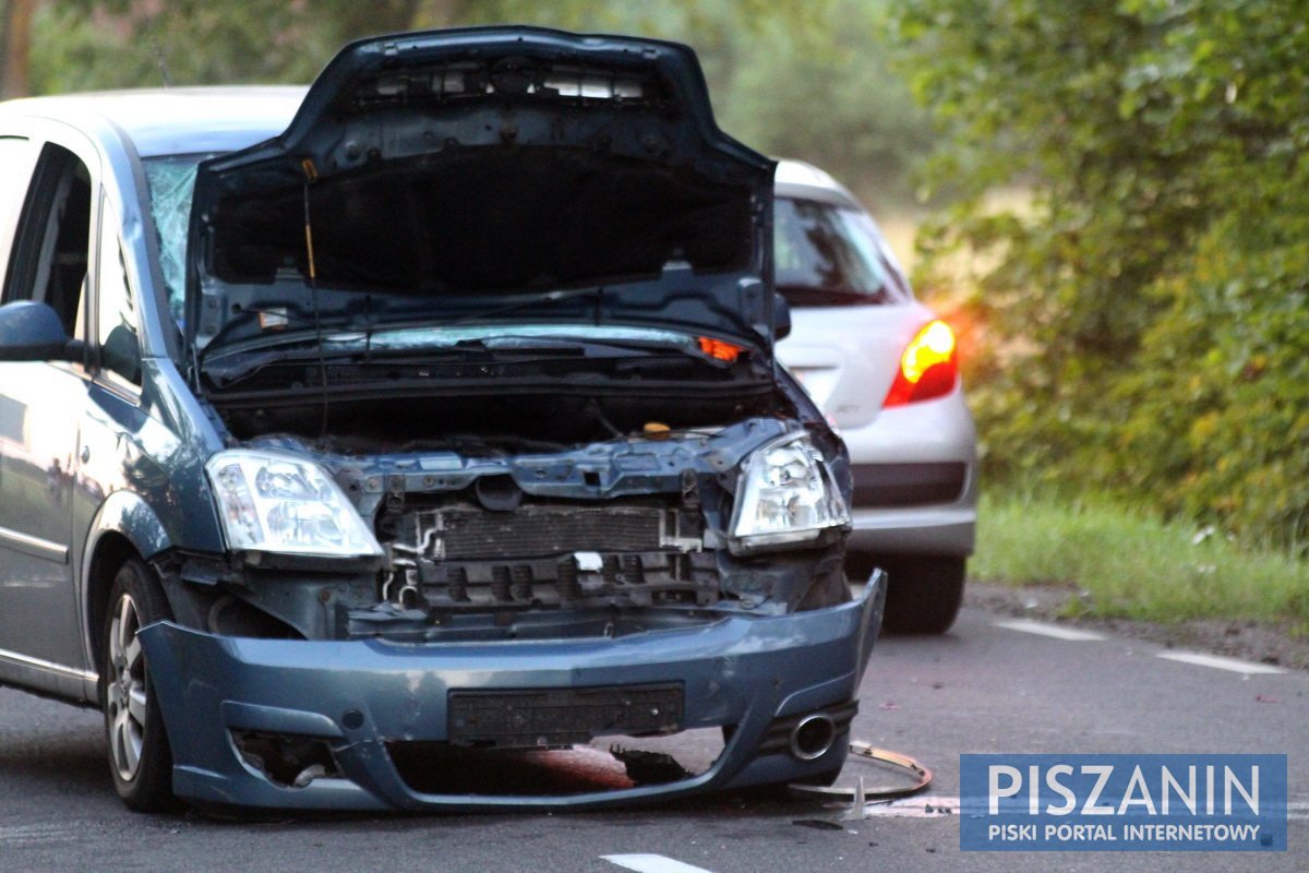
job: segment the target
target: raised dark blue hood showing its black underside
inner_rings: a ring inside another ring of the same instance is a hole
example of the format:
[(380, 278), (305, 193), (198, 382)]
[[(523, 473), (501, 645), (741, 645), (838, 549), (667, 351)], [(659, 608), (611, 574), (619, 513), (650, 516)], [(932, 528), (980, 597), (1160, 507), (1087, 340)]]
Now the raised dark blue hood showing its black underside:
[(200, 165), (186, 335), (615, 323), (771, 349), (774, 166), (719, 130), (686, 46), (364, 39), (284, 134)]

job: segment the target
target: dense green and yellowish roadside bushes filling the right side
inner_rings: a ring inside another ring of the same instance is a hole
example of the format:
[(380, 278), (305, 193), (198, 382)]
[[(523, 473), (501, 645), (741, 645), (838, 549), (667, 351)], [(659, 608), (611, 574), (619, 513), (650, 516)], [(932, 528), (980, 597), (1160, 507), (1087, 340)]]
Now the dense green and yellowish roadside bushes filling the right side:
[[(1309, 4), (894, 0), (970, 196), (991, 475), (1144, 499), (1305, 551)], [(984, 196), (1030, 199), (995, 209)], [(956, 263), (958, 263), (956, 260)]]

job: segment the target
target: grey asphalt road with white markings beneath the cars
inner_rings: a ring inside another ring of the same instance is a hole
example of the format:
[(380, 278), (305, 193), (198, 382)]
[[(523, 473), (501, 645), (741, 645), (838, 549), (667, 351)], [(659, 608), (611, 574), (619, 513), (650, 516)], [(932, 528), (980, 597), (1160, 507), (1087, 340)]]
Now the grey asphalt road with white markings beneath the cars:
[[(221, 822), (135, 815), (114, 796), (99, 715), (0, 690), (0, 863), (7, 870), (1306, 870), (1309, 673), (1166, 660), (1123, 639), (1066, 640), (966, 609), (945, 637), (886, 637), (853, 738), (935, 771), (927, 797), (861, 821), (804, 800), (716, 796), (586, 814)], [(1038, 628), (1039, 630), (1039, 628)], [(1257, 665), (1254, 665), (1257, 666)], [(1253, 669), (1253, 668), (1251, 668)], [(959, 852), (959, 754), (1285, 753), (1285, 853)], [(870, 783), (888, 775), (850, 764)], [(691, 865), (678, 866), (677, 863)]]

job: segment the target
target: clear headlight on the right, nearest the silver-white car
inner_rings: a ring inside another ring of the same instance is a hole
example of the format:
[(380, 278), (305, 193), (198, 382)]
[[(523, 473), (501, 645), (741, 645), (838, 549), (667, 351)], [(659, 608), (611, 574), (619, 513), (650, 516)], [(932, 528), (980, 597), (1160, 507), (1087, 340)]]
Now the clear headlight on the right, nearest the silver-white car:
[(732, 551), (806, 543), (848, 524), (846, 500), (809, 435), (788, 435), (746, 459), (732, 518)]

